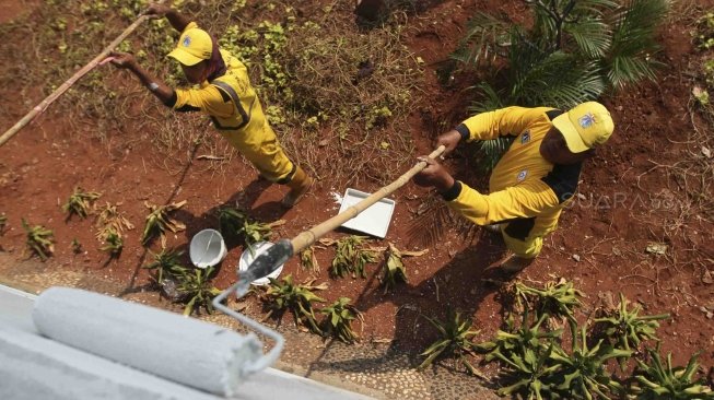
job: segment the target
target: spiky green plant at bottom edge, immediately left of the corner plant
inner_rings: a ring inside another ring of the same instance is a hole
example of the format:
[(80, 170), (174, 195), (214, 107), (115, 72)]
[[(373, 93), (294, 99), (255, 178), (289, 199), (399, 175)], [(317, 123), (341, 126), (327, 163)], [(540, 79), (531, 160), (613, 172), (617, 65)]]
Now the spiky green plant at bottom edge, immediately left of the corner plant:
[(602, 340), (588, 348), (586, 327), (581, 329), (580, 340), (574, 336), (573, 342), (575, 343), (572, 354), (565, 353), (559, 346), (554, 346), (550, 354), (551, 360), (561, 365), (555, 378), (559, 384), (555, 389), (563, 398), (609, 399), (608, 392), (621, 393), (622, 386), (611, 378), (605, 367), (608, 360), (629, 357), (632, 352), (609, 345), (602, 346)]

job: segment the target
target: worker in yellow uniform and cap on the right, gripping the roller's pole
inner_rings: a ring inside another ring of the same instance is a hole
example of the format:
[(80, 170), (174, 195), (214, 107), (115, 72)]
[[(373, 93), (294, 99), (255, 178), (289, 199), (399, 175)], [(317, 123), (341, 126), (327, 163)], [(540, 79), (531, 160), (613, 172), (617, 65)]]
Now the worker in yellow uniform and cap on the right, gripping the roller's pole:
[(502, 268), (518, 271), (540, 252), (543, 237), (577, 189), (583, 162), (594, 155), (614, 129), (610, 113), (587, 102), (563, 113), (548, 107), (507, 107), (468, 118), (438, 137), (453, 151), (461, 141), (511, 136), (514, 141), (493, 169), (490, 193), (455, 180), (437, 162), (414, 176), (434, 187), (448, 207), (478, 225), (499, 231), (514, 256)]

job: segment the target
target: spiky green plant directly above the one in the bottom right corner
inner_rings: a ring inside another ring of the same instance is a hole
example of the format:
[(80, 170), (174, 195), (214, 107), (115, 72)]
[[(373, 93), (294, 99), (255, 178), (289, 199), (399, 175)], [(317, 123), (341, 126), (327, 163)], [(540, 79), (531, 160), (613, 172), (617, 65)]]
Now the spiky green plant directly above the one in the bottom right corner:
[[(618, 349), (636, 351), (645, 340), (659, 340), (656, 336), (659, 328), (657, 321), (669, 318), (669, 314), (640, 316), (642, 306), (635, 305), (628, 309), (629, 303), (620, 293), (620, 307), (611, 316), (595, 319), (595, 323), (601, 323), (600, 329), (609, 343)], [(620, 360), (621, 366), (624, 366), (624, 360)]]

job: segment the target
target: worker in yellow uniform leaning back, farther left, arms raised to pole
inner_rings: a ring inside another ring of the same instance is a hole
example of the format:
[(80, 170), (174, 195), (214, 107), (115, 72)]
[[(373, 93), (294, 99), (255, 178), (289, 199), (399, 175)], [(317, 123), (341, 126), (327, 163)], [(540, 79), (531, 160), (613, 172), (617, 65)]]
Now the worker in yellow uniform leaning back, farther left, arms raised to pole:
[(221, 136), (250, 161), (260, 175), (290, 188), (282, 204), (292, 208), (311, 188), (313, 179), (290, 161), (280, 146), (250, 85), (245, 64), (220, 49), (215, 38), (171, 7), (151, 4), (145, 13), (165, 16), (182, 33), (168, 57), (180, 63), (188, 82), (198, 87), (168, 87), (151, 77), (129, 54), (113, 52), (112, 62), (131, 71), (166, 106), (177, 111), (208, 114)]

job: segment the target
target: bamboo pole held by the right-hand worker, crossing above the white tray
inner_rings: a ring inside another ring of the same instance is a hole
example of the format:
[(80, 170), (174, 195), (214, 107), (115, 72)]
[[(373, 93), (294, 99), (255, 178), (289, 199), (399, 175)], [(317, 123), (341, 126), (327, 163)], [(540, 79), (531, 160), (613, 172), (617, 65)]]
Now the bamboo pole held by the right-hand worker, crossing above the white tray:
[[(434, 150), (431, 154), (429, 154), (430, 158), (436, 158), (442, 153), (444, 152), (445, 148), (443, 145), (440, 145), (436, 150)], [(391, 195), (395, 192), (395, 190), (399, 189), (400, 187), (405, 186), (409, 179), (411, 179), (414, 175), (417, 175), (419, 172), (424, 169), (426, 167), (426, 162), (420, 161), (411, 167), (408, 172), (406, 172), (403, 175), (401, 175), (399, 178), (397, 178), (395, 181), (391, 184), (381, 188), (376, 192), (370, 195), (366, 199), (360, 201), (359, 203), (348, 208), (347, 210), (342, 211), (341, 213), (332, 216), (331, 219), (320, 223), (319, 225), (316, 225), (308, 231), (304, 231), (297, 236), (295, 236), (292, 240), (290, 240), (290, 244), (292, 245), (293, 248), (293, 255), (304, 250), (317, 239), (320, 237), (325, 236), (329, 232), (336, 230), (343, 223), (350, 221), (351, 219), (358, 216), (362, 211), (366, 210), (370, 208), (370, 205), (376, 203), (377, 201), (384, 199), (385, 197)]]

